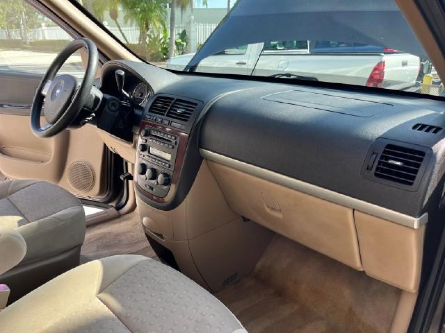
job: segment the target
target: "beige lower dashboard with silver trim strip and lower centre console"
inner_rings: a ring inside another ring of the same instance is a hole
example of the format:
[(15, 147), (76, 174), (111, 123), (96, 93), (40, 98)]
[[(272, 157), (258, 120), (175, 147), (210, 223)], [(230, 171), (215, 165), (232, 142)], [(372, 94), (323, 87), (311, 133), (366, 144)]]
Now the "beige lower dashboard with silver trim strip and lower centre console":
[(426, 214), (413, 218), (222, 155), (201, 154), (201, 168), (178, 207), (158, 210), (137, 198), (147, 235), (201, 285), (215, 292), (248, 274), (275, 232), (389, 285), (417, 291)]

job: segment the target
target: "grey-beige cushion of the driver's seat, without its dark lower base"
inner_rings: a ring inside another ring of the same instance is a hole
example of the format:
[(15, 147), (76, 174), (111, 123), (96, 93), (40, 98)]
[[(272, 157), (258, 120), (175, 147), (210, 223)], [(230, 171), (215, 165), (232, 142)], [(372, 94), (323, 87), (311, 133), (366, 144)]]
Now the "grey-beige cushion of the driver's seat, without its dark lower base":
[(27, 253), (20, 265), (81, 246), (85, 213), (73, 194), (49, 182), (0, 182), (0, 226), (15, 228)]

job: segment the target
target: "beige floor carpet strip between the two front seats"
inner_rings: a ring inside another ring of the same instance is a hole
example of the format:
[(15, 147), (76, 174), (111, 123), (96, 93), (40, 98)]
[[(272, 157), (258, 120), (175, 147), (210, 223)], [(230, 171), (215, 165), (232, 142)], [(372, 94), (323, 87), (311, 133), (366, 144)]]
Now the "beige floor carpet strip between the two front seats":
[(81, 263), (117, 254), (157, 258), (142, 230), (137, 212), (89, 226), (81, 248)]

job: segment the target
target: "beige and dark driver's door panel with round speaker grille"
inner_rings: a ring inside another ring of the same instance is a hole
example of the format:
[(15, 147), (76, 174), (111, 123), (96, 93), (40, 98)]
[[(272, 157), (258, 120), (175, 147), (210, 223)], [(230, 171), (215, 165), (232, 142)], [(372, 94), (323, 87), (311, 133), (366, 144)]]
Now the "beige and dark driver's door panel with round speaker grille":
[(49, 139), (32, 134), (29, 106), (40, 78), (0, 72), (0, 174), (46, 180), (81, 197), (104, 197), (105, 148), (95, 127), (86, 125)]

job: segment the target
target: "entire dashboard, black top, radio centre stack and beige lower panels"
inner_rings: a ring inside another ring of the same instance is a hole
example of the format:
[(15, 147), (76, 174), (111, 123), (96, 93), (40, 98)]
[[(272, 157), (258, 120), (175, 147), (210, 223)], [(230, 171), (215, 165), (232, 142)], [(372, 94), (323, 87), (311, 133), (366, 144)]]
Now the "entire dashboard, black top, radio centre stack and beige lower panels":
[[(149, 238), (181, 257), (178, 242), (192, 242), (196, 230), (210, 230), (220, 218), (206, 208), (221, 195), (210, 195), (216, 179), (224, 195), (219, 202), (239, 216), (417, 290), (421, 270), (431, 267), (419, 258), (433, 258), (443, 228), (444, 101), (318, 83), (177, 75), (130, 61), (104, 65), (104, 94), (119, 95), (117, 69), (142, 101), (134, 103), (129, 162), (139, 214), (154, 230), (146, 231)], [(213, 178), (202, 176), (207, 169)], [(201, 186), (199, 199), (187, 201), (197, 195), (194, 186)]]

